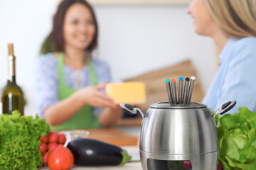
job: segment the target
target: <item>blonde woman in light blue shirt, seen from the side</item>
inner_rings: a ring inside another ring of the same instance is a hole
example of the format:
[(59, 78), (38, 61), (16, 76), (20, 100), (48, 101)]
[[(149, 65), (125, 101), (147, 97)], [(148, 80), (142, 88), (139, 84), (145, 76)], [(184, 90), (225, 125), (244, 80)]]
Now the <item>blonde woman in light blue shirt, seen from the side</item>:
[(188, 13), (195, 32), (213, 38), (220, 66), (203, 102), (213, 111), (237, 101), (230, 113), (256, 111), (256, 1), (192, 0)]

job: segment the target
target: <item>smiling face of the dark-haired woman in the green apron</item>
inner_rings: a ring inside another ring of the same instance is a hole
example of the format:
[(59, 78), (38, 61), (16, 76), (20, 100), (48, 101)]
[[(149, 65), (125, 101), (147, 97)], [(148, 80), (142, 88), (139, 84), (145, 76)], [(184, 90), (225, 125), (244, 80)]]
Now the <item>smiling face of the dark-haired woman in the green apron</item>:
[(95, 21), (89, 8), (73, 4), (68, 8), (63, 23), (65, 46), (85, 50), (95, 36)]

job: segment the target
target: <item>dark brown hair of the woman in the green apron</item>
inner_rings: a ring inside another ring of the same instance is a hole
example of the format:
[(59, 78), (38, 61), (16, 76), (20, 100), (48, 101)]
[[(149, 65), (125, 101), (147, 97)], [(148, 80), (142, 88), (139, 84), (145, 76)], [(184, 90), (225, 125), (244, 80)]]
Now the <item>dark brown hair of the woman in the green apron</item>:
[[(97, 21), (95, 17), (95, 13), (92, 9), (92, 6), (87, 3), (85, 0), (63, 0), (60, 5), (58, 6), (58, 10), (55, 13), (55, 16), (53, 17), (53, 30), (50, 33), (50, 36), (46, 38), (48, 40), (48, 43), (52, 44), (53, 47), (51, 50), (54, 50), (56, 52), (63, 52), (64, 51), (64, 38), (63, 38), (63, 23), (65, 18), (65, 13), (68, 11), (68, 8), (72, 6), (73, 4), (83, 4), (89, 8), (90, 12), (92, 13), (92, 18), (94, 20), (95, 24), (95, 35), (92, 39), (92, 42), (90, 45), (85, 49), (88, 52), (92, 52), (92, 50), (97, 47), (97, 36), (98, 36), (98, 27), (97, 27)], [(45, 41), (46, 41), (45, 40)], [(51, 42), (50, 42), (51, 41)], [(44, 44), (44, 42), (43, 42)], [(41, 52), (43, 52), (43, 45), (41, 48)], [(47, 52), (43, 52), (47, 53)]]

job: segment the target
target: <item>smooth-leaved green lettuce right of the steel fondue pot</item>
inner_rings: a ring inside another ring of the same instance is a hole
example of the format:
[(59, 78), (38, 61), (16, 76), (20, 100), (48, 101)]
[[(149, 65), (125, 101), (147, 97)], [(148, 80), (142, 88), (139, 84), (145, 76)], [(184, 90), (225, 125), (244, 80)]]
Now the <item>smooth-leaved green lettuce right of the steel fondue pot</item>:
[(216, 115), (219, 159), (224, 170), (256, 169), (256, 113), (246, 107), (234, 115)]

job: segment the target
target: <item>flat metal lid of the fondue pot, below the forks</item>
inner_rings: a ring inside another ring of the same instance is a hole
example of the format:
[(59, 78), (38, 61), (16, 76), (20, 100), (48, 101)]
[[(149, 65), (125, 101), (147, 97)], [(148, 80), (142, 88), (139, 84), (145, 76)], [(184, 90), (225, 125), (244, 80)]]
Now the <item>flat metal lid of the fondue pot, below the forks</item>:
[(181, 108), (206, 108), (207, 106), (202, 103), (191, 102), (189, 104), (170, 104), (169, 102), (154, 103), (150, 108), (166, 108), (166, 109), (181, 109)]

